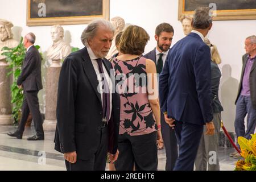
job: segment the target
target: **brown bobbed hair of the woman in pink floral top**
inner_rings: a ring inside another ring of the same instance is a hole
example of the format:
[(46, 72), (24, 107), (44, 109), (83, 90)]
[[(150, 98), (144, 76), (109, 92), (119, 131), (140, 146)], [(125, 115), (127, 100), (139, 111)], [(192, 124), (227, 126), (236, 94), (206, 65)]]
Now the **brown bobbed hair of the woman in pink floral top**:
[(131, 55), (142, 55), (149, 39), (150, 36), (142, 27), (130, 25), (123, 31), (119, 51)]

